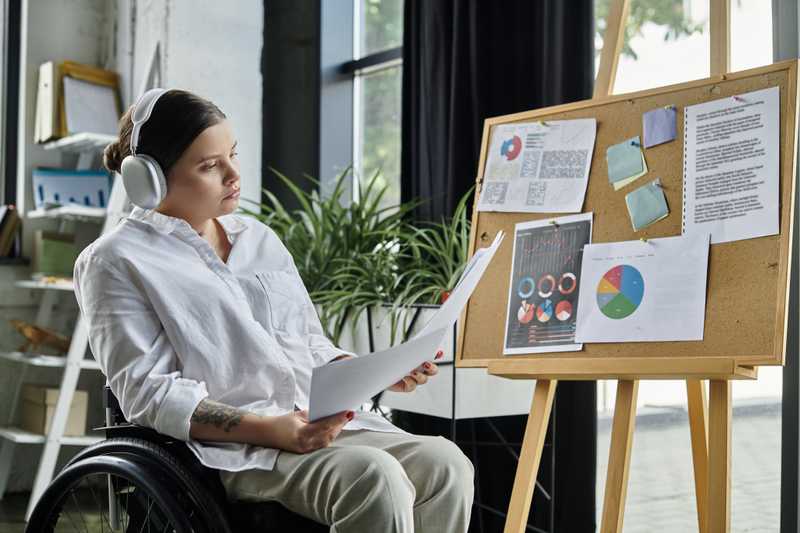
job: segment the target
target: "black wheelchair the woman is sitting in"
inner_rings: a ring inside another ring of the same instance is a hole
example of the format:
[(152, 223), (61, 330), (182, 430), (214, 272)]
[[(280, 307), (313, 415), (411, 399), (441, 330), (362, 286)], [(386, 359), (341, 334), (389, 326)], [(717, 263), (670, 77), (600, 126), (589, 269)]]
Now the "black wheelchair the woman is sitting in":
[(325, 533), (328, 526), (278, 502), (228, 501), (216, 470), (182, 441), (128, 423), (104, 392), (106, 439), (84, 448), (53, 479), (26, 533)]

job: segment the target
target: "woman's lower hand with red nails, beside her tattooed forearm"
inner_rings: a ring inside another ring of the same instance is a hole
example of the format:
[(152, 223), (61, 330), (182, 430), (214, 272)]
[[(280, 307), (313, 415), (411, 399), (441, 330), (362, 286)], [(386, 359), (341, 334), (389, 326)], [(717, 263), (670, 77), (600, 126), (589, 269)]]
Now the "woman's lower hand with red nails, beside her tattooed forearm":
[(293, 453), (308, 453), (325, 448), (339, 435), (344, 425), (353, 419), (353, 415), (353, 411), (345, 411), (309, 422), (308, 411), (302, 410), (270, 417), (267, 419), (264, 445)]

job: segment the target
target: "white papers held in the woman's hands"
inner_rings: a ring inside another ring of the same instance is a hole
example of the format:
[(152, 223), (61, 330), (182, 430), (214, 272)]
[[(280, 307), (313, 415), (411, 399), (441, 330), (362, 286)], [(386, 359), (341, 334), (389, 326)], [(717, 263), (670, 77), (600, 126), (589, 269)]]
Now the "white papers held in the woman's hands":
[(411, 340), (387, 350), (314, 368), (311, 374), (309, 419), (314, 421), (356, 409), (425, 361), (434, 359), (445, 335), (450, 333), (503, 242), (503, 236), (503, 232), (499, 231), (488, 248), (481, 248), (473, 254), (445, 303)]

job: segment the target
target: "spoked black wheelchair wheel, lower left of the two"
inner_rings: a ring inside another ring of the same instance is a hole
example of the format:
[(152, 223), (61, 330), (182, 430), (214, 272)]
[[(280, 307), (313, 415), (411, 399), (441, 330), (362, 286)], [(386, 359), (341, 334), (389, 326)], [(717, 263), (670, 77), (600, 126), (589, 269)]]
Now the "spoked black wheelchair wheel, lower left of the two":
[[(97, 476), (98, 479), (92, 481), (93, 476)], [(99, 529), (105, 530), (105, 524), (108, 524), (109, 531), (112, 531), (113, 520), (107, 507), (108, 493), (102, 489), (95, 490), (93, 486), (98, 482), (102, 484), (103, 480), (107, 483), (113, 481), (114, 492), (120, 502), (123, 498), (122, 494), (125, 494), (124, 510), (128, 521), (127, 523), (122, 521), (121, 525), (125, 526), (123, 530), (144, 531), (155, 528), (156, 531), (174, 531), (175, 533), (200, 531), (192, 524), (191, 517), (182, 509), (175, 497), (176, 487), (172, 486), (168, 479), (154, 475), (146, 467), (129, 458), (102, 455), (72, 462), (69, 466), (64, 467), (36, 503), (25, 532), (51, 533), (64, 530), (68, 525), (78, 531), (80, 531), (79, 526), (83, 525), (86, 531), (91, 531), (89, 524), (95, 524), (98, 519), (97, 515), (93, 512), (84, 514), (84, 510), (81, 509), (82, 504), (78, 501), (79, 499), (87, 500), (86, 488), (92, 495), (90, 503), (93, 501), (97, 505)], [(82, 484), (85, 484), (86, 487), (79, 491)], [(105, 485), (104, 488), (107, 489), (108, 486)], [(67, 510), (73, 503), (79, 520)], [(105, 514), (103, 505), (106, 506)], [(120, 504), (120, 507), (123, 506)], [(142, 516), (143, 513), (145, 513), (144, 516)], [(63, 522), (61, 522), (62, 518), (65, 518)], [(103, 520), (105, 520), (105, 524)]]

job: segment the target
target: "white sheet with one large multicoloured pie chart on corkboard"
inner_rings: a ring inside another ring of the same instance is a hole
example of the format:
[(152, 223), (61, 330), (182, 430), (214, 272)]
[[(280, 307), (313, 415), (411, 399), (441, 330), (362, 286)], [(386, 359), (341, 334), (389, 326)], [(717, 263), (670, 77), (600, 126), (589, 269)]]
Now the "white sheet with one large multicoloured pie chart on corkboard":
[(703, 339), (709, 235), (587, 244), (578, 342)]

